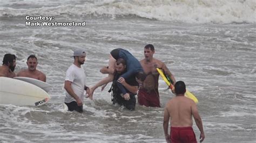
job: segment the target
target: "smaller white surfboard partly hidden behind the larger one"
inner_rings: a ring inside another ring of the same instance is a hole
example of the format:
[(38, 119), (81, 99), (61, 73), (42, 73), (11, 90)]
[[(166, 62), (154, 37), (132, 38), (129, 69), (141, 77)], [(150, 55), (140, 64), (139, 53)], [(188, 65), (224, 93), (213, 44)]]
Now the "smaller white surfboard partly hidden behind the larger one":
[(51, 90), (51, 84), (37, 80), (35, 78), (30, 78), (30, 77), (14, 77), (14, 78), (17, 80), (22, 80), (25, 82), (35, 84), (37, 85), (37, 87), (42, 88), (46, 92), (49, 92)]

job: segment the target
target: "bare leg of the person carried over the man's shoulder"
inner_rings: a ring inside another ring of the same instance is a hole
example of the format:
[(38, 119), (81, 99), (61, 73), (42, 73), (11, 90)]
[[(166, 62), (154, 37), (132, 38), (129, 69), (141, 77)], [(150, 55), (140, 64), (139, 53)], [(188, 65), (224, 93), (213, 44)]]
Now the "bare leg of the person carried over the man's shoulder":
[[(113, 56), (110, 54), (109, 57), (109, 68), (114, 68), (114, 65), (116, 64), (116, 59), (113, 58)], [(114, 79), (114, 75), (113, 74), (109, 74), (109, 76), (103, 78), (102, 80), (100, 80), (98, 83), (96, 83), (93, 87), (90, 88), (91, 91), (91, 95), (93, 95), (93, 92), (95, 89), (97, 89), (98, 87), (107, 84), (109, 82), (112, 82)], [(91, 96), (92, 98), (92, 96)]]

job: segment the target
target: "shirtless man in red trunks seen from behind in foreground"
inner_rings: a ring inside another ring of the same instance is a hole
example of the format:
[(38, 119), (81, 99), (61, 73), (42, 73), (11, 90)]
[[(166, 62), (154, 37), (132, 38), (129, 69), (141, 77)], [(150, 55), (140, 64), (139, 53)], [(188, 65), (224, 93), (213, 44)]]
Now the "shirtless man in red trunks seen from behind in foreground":
[[(178, 81), (174, 85), (176, 97), (172, 98), (164, 110), (164, 133), (167, 142), (197, 142), (193, 131), (193, 120), (200, 130), (200, 142), (205, 138), (203, 123), (199, 116), (196, 103), (185, 97), (186, 85)], [(171, 123), (170, 135), (168, 134), (169, 119)]]

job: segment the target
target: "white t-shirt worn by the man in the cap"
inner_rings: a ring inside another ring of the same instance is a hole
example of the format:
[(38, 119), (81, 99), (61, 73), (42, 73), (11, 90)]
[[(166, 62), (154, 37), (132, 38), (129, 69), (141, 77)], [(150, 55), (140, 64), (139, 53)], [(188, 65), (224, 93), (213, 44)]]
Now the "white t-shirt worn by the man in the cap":
[[(84, 85), (85, 85), (85, 73), (84, 68), (77, 67), (72, 64), (68, 70), (66, 70), (66, 78), (65, 81), (71, 81), (71, 88), (75, 92), (75, 94), (84, 102)], [(66, 91), (65, 103), (70, 103), (72, 101), (76, 101), (75, 98), (69, 95)]]

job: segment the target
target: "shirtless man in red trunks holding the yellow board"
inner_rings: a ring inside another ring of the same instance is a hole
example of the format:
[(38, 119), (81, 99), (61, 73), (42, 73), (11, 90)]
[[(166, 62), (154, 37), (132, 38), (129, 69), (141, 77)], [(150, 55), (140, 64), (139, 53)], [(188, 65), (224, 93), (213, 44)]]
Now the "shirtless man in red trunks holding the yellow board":
[[(171, 79), (172, 84), (176, 83), (176, 80), (170, 70), (165, 66), (165, 63), (153, 58), (154, 46), (149, 44), (144, 47), (145, 59), (140, 61), (147, 77), (143, 82), (143, 86), (140, 87), (138, 92), (139, 105), (160, 107), (159, 92), (158, 92), (158, 79), (159, 73), (156, 68), (163, 70), (164, 74)], [(174, 92), (174, 91), (173, 91)]]

